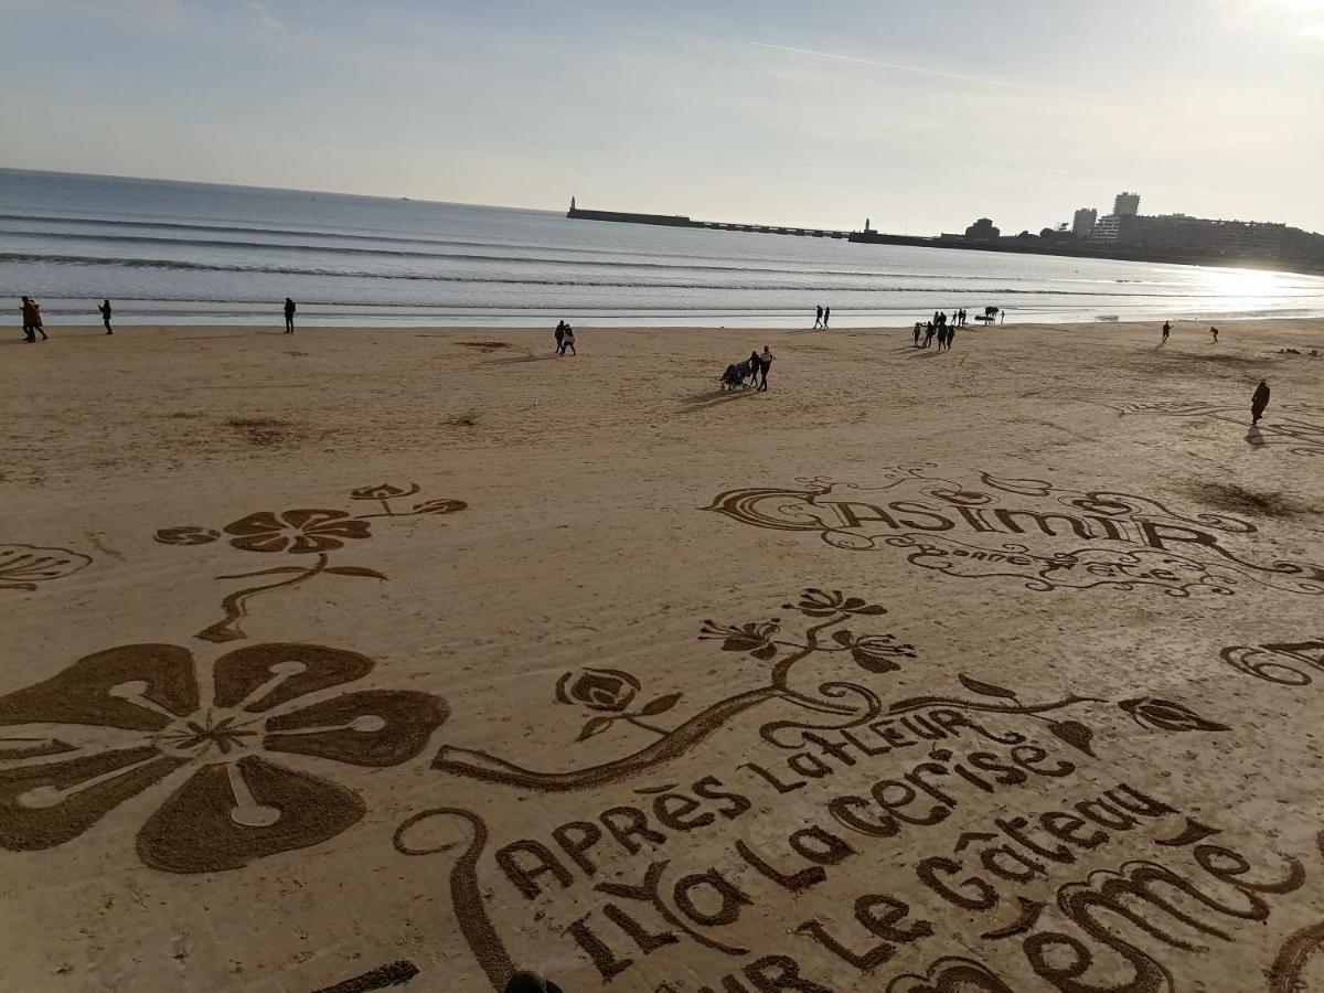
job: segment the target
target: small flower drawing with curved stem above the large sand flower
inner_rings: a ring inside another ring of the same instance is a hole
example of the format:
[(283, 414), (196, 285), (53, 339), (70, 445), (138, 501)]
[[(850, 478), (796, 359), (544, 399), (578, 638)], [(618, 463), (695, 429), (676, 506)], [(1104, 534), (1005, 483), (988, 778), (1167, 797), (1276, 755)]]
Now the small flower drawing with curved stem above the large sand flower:
[(162, 544), (211, 544), (225, 538), (233, 548), (244, 552), (314, 556), (311, 564), (303, 564), (306, 560), (299, 560), (299, 564), (291, 563), (254, 572), (217, 576), (217, 580), (254, 579), (257, 576), (281, 576), (282, 579), (274, 583), (245, 587), (228, 594), (221, 601), (224, 617), (216, 624), (208, 625), (193, 637), (217, 643), (246, 638), (248, 636), (240, 626), (240, 621), (248, 616), (249, 604), (256, 597), (277, 589), (295, 587), (314, 576), (388, 579), (385, 573), (363, 565), (331, 565), (330, 552), (343, 548), (347, 542), (360, 542), (372, 538), (372, 526), (368, 523), (372, 518), (457, 514), (469, 506), (463, 500), (430, 499), (414, 503), (409, 510), (395, 508), (393, 502), (406, 499), (417, 493), (420, 493), (417, 483), (410, 483), (408, 487), (381, 483), (380, 486), (363, 486), (352, 490), (350, 499), (371, 500), (381, 506), (380, 512), (372, 514), (351, 515), (343, 510), (315, 508), (287, 510), (277, 514), (263, 510), (240, 518), (220, 531), (196, 524), (162, 528), (155, 535), (155, 539)]

